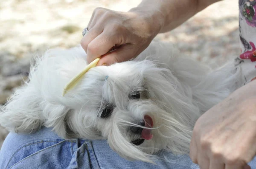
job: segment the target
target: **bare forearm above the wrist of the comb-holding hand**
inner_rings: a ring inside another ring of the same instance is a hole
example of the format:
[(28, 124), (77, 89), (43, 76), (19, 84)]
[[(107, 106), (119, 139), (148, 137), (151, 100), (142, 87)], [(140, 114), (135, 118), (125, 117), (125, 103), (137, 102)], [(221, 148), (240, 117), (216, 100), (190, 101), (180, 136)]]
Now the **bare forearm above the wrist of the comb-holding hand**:
[(163, 33), (171, 31), (217, 1), (220, 0), (143, 0), (131, 11), (150, 12), (153, 22), (160, 25), (160, 33)]

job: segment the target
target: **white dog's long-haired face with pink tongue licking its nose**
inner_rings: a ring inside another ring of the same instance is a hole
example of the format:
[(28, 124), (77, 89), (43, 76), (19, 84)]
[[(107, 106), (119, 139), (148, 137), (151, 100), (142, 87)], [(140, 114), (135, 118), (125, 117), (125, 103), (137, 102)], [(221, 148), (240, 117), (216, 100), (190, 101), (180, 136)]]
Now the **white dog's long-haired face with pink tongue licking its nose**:
[(65, 96), (76, 98), (70, 99), (75, 104), (66, 121), (76, 136), (107, 139), (119, 155), (149, 161), (159, 150), (180, 148), (175, 144), (186, 127), (179, 119), (186, 120), (174, 112), (182, 104), (177, 83), (169, 70), (150, 61), (92, 68)]

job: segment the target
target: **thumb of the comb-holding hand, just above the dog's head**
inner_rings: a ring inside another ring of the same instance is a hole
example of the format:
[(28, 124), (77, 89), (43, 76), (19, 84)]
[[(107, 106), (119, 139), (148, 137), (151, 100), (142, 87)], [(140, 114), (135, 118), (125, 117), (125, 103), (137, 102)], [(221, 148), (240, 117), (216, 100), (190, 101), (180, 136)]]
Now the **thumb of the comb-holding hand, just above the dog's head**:
[(111, 53), (102, 56), (98, 65), (112, 65), (116, 62), (128, 61), (136, 56), (136, 51), (137, 49), (134, 49), (130, 44), (122, 45)]

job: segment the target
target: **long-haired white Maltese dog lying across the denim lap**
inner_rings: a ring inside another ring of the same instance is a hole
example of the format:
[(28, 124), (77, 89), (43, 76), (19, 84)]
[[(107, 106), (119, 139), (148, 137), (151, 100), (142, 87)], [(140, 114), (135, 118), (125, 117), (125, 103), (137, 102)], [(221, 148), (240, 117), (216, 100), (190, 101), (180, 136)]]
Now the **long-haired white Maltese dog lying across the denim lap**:
[(35, 58), (0, 124), (17, 133), (45, 126), (62, 138), (107, 139), (122, 157), (152, 162), (160, 150), (188, 153), (198, 117), (242, 85), (233, 62), (212, 71), (152, 42), (136, 59), (91, 68), (62, 96), (86, 66), (81, 46)]

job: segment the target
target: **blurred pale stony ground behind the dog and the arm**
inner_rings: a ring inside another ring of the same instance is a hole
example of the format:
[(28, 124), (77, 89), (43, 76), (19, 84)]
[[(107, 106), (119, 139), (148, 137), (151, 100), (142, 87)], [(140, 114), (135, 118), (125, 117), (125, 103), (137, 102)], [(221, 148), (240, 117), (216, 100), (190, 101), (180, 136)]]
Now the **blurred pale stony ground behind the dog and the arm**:
[[(1, 0), (0, 108), (29, 73), (30, 60), (49, 48), (78, 45), (94, 8), (128, 11), (140, 0)], [(186, 12), (186, 11), (184, 11)], [(223, 0), (156, 39), (212, 67), (240, 54), (238, 0)], [(0, 127), (0, 146), (7, 135)]]

